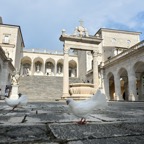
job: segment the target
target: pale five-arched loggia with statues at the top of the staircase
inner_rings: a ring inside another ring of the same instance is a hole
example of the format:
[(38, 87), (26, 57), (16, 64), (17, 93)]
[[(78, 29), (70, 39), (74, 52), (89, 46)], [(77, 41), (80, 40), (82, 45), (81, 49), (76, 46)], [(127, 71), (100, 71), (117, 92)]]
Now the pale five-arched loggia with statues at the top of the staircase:
[[(69, 76), (78, 77), (78, 58), (76, 55), (69, 57)], [(63, 77), (63, 54), (47, 52), (23, 51), (21, 58), (21, 75), (41, 75)]]

